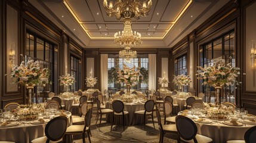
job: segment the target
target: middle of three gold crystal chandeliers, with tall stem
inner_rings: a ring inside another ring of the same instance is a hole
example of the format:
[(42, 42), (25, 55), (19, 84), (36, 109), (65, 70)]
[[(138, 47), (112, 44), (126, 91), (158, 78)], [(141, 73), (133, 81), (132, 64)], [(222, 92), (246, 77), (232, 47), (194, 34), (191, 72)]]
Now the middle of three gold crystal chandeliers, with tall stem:
[(134, 47), (137, 45), (141, 45), (141, 35), (138, 32), (132, 32), (131, 30), (131, 19), (125, 18), (124, 20), (124, 30), (116, 32), (114, 35), (114, 43), (115, 45), (121, 46), (121, 47)]

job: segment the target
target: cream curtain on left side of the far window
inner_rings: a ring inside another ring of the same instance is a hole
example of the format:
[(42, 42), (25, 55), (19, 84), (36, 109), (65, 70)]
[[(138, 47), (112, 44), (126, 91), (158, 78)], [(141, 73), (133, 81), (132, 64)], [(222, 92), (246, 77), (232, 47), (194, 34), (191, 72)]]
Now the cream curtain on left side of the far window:
[(107, 89), (107, 54), (100, 55), (100, 77), (101, 77), (101, 93), (104, 94), (104, 90)]

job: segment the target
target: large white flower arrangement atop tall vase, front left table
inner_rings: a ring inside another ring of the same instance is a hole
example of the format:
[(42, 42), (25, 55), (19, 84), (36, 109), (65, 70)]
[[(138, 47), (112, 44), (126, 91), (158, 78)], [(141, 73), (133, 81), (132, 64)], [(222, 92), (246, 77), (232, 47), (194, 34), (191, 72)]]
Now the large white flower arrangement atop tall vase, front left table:
[[(20, 54), (23, 57), (22, 54)], [(39, 61), (29, 60), (27, 63), (21, 61), (20, 66), (15, 66), (10, 73), (10, 77), (15, 79), (15, 82), (20, 85), (35, 86), (49, 83), (50, 70), (40, 67)]]

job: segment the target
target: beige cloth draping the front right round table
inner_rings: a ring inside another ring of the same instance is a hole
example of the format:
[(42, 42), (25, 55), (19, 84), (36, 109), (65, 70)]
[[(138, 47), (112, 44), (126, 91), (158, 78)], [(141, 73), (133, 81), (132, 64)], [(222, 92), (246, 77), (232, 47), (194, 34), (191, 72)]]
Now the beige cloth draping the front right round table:
[[(181, 114), (178, 113), (178, 114)], [(246, 130), (253, 125), (232, 126), (224, 124), (224, 120), (212, 123), (196, 122), (197, 119), (192, 119), (198, 128), (198, 134), (208, 136), (216, 143), (224, 143), (230, 140), (243, 140)], [(227, 120), (227, 119), (225, 119)]]

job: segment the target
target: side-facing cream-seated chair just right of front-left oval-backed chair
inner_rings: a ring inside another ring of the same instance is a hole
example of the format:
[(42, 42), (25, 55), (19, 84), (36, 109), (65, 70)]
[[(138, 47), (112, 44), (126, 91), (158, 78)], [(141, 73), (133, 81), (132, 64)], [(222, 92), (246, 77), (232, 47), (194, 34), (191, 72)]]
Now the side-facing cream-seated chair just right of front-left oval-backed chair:
[[(92, 116), (92, 109), (87, 111), (84, 117), (84, 125), (71, 125), (67, 127), (65, 135), (81, 135), (82, 134), (82, 141), (85, 143), (85, 134), (91, 142), (90, 134), (91, 134), (91, 116)], [(73, 141), (72, 141), (73, 142)]]

